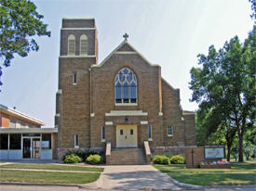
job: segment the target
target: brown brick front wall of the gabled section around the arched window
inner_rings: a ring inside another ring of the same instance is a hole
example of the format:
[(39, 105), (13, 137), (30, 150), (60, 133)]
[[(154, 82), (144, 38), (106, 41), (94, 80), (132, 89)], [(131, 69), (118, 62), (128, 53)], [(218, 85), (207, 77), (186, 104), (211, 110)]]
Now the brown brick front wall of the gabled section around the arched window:
[[(129, 49), (126, 45), (121, 48), (121, 50), (130, 51), (131, 49)], [(128, 67), (136, 74), (138, 82), (138, 106), (115, 106), (115, 75), (124, 67)], [(159, 70), (160, 67), (150, 65), (138, 54), (114, 54), (101, 67), (92, 68), (91, 112), (95, 114), (95, 117), (93, 117), (91, 120), (92, 122), (90, 127), (90, 139), (92, 147), (102, 146), (99, 140), (101, 139), (101, 126), (104, 125), (105, 122), (105, 113), (108, 113), (111, 110), (126, 109), (148, 112), (148, 121), (149, 124), (152, 125), (154, 134), (153, 141), (150, 144), (163, 144), (161, 117), (159, 116)], [(119, 124), (124, 124), (122, 120), (123, 117), (115, 118), (115, 121), (118, 121)], [(140, 121), (137, 122), (138, 123), (136, 124), (140, 125)], [(141, 134), (146, 134), (147, 136), (147, 131), (139, 130), (138, 135), (145, 137), (145, 135)], [(115, 136), (115, 134), (111, 134), (111, 136)], [(115, 137), (111, 137), (110, 139), (114, 140)]]

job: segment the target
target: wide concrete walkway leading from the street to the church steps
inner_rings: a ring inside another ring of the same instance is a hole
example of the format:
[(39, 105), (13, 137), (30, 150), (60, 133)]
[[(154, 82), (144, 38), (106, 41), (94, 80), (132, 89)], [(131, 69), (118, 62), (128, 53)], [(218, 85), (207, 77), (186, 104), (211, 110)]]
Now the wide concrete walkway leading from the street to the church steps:
[(171, 189), (184, 190), (174, 185), (168, 174), (151, 165), (104, 166), (98, 181), (85, 188), (106, 190)]

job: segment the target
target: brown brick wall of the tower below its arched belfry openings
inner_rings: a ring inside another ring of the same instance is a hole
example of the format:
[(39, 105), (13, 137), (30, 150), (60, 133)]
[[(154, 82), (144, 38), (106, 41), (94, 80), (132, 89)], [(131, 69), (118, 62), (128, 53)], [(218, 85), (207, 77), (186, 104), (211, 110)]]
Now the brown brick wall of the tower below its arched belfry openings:
[[(95, 57), (60, 57), (59, 89), (61, 89), (61, 123), (59, 147), (74, 147), (74, 134), (79, 145), (89, 147), (90, 75), (89, 67)], [(76, 73), (76, 84), (73, 74)], [(58, 106), (57, 106), (58, 107)]]

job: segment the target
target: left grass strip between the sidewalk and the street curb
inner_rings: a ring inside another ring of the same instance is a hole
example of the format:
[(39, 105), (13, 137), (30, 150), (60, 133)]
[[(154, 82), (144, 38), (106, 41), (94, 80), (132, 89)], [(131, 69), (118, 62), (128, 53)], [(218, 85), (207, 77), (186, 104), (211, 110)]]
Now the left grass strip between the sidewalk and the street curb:
[(87, 184), (96, 181), (100, 173), (91, 172), (28, 172), (0, 170), (1, 182)]

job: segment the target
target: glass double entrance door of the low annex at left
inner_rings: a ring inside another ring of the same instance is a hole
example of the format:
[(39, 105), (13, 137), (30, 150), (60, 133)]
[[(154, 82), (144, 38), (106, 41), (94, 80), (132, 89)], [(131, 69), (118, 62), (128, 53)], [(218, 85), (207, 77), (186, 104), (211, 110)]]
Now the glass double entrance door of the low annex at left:
[(39, 138), (22, 138), (22, 158), (40, 159), (41, 141)]

